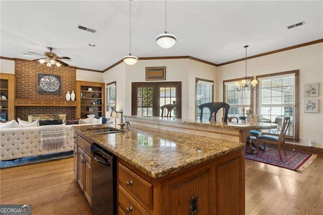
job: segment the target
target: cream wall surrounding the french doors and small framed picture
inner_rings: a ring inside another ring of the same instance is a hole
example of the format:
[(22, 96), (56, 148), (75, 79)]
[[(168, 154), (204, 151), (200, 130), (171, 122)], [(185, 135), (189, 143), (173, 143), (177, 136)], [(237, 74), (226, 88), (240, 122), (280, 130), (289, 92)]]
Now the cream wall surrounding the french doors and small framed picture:
[(190, 59), (141, 60), (132, 66), (121, 63), (104, 72), (105, 83), (117, 81), (117, 110), (123, 109), (125, 115), (131, 115), (132, 82), (146, 81), (146, 67), (164, 66), (165, 81), (182, 82), (182, 118), (195, 119), (195, 78), (215, 80), (216, 67)]

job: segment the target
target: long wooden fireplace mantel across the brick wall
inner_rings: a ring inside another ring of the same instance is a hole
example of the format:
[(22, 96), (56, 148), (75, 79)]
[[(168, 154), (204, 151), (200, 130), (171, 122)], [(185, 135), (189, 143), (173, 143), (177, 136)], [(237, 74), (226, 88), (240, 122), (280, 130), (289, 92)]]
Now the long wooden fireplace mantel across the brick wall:
[(75, 107), (76, 101), (53, 100), (53, 99), (15, 99), (15, 106), (57, 106), (57, 107)]

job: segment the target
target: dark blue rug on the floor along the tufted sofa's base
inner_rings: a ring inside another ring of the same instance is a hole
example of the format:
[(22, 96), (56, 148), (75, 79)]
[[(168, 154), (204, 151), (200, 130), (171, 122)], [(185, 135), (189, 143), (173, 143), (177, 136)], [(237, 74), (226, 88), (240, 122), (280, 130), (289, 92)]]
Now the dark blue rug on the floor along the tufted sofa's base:
[(73, 156), (73, 151), (64, 151), (64, 152), (55, 153), (55, 154), (44, 154), (44, 155), (38, 155), (38, 156), (32, 156), (32, 157), (17, 158), (12, 160), (2, 160), (0, 162), (0, 169), (45, 162), (48, 160), (62, 159), (62, 158), (71, 157), (71, 156)]

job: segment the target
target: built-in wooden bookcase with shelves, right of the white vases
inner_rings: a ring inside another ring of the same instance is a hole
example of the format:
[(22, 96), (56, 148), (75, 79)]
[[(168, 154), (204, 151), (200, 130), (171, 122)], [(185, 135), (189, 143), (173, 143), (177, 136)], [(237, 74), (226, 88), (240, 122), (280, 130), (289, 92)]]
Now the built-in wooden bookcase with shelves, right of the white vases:
[[(91, 90), (89, 90), (91, 88)], [(93, 104), (94, 103), (94, 104)], [(105, 115), (105, 84), (98, 82), (76, 81), (76, 118), (87, 115)]]

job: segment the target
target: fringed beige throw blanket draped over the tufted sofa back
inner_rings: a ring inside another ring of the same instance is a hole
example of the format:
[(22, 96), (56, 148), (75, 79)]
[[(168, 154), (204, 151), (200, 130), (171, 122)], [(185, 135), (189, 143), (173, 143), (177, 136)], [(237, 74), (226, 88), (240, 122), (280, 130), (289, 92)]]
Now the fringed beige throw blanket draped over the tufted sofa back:
[(50, 150), (66, 146), (65, 125), (40, 126), (40, 149)]

